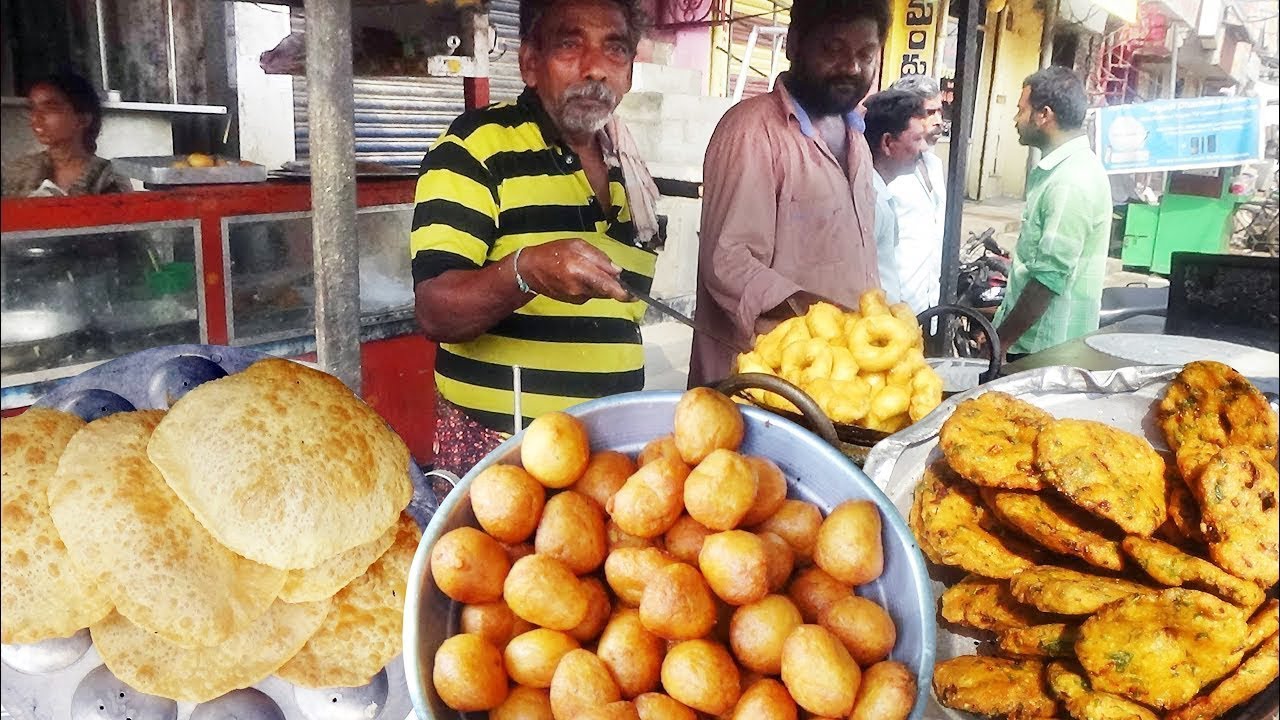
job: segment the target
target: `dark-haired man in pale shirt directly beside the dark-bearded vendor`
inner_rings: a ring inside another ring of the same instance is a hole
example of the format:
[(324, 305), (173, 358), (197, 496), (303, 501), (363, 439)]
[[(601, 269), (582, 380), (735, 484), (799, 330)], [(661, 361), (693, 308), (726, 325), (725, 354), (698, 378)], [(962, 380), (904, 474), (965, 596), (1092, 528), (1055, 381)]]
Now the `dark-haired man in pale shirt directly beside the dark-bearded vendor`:
[(888, 301), (904, 302), (905, 258), (899, 247), (901, 213), (888, 183), (909, 174), (927, 147), (924, 101), (914, 92), (886, 90), (868, 99), (865, 108), (864, 136), (876, 168), (872, 176), (876, 188), (876, 264)]

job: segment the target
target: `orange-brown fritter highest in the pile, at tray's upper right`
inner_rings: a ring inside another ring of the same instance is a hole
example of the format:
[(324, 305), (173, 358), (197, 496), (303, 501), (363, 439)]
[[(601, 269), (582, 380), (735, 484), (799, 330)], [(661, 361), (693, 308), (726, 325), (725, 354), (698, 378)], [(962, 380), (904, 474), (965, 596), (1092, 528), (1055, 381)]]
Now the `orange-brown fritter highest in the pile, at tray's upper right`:
[(1156, 421), (1187, 479), (1229, 445), (1253, 446), (1267, 460), (1276, 457), (1276, 414), (1258, 388), (1221, 363), (1183, 368), (1160, 401)]

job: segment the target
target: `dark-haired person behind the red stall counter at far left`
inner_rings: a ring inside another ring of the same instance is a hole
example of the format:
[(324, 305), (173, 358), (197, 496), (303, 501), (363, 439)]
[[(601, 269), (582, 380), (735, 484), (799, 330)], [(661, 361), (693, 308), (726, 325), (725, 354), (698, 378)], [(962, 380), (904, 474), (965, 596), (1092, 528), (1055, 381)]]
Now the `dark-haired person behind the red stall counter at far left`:
[(102, 129), (102, 101), (87, 79), (58, 73), (27, 91), (31, 132), (45, 150), (4, 167), (4, 196), (101, 195), (129, 192), (129, 179), (95, 155)]

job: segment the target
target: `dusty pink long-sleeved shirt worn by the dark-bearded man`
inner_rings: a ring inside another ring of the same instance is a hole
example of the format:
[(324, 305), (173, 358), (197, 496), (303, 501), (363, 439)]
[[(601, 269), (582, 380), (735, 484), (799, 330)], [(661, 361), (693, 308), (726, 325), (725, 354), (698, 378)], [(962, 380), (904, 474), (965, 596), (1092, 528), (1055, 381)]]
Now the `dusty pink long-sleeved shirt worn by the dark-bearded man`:
[[(876, 191), (861, 118), (851, 113), (849, 173), (782, 82), (721, 119), (703, 164), (700, 327), (750, 347), (762, 318), (799, 291), (856, 307), (879, 287)], [(724, 378), (736, 350), (694, 333), (690, 387)]]

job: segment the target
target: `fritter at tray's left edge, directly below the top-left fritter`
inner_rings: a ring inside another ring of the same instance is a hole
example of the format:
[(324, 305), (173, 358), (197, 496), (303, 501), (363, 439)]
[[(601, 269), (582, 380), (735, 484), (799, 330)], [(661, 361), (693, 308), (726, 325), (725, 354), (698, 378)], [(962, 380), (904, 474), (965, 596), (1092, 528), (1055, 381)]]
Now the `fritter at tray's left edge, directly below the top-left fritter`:
[(1036, 564), (1033, 548), (991, 532), (996, 521), (982, 505), (978, 489), (946, 462), (925, 469), (910, 515), (920, 548), (938, 565), (1009, 578)]

